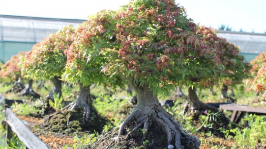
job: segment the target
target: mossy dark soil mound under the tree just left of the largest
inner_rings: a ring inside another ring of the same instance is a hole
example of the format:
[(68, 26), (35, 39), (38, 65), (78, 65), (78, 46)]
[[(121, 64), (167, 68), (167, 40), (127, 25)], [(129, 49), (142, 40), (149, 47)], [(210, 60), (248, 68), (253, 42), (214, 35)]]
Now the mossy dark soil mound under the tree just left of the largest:
[(46, 117), (44, 122), (39, 125), (39, 128), (48, 132), (82, 135), (83, 132), (94, 133), (94, 130), (101, 132), (107, 123), (108, 121), (101, 117), (93, 107), (90, 112), (89, 122), (87, 123), (83, 123), (83, 111), (66, 110)]

